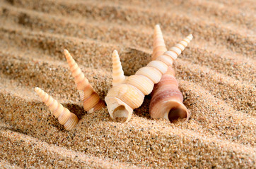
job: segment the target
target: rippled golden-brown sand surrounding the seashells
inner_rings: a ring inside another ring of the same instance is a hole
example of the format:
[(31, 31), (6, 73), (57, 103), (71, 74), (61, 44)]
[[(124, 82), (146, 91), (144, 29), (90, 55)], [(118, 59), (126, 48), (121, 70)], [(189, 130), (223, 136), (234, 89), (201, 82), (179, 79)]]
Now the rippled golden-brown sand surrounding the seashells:
[[(255, 2), (0, 1), (0, 168), (256, 168)], [(96, 92), (111, 87), (111, 53), (125, 75), (151, 60), (153, 26), (175, 62), (187, 123), (153, 120), (150, 96), (129, 123), (83, 111), (63, 50)], [(80, 119), (70, 132), (40, 87)]]

